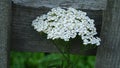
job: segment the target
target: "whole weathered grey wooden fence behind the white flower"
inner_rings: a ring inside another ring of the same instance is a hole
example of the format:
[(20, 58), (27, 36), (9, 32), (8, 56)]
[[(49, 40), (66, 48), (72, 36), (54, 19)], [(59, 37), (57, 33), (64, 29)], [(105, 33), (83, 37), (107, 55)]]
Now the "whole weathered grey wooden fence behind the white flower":
[(120, 68), (119, 3), (119, 0), (0, 0), (0, 68), (9, 68), (10, 50), (58, 52), (50, 41), (40, 37), (31, 26), (36, 16), (57, 6), (71, 6), (86, 11), (90, 18), (95, 19), (98, 36), (102, 39), (101, 46), (84, 52), (80, 49), (79, 41), (74, 41), (71, 53), (96, 55), (96, 68)]

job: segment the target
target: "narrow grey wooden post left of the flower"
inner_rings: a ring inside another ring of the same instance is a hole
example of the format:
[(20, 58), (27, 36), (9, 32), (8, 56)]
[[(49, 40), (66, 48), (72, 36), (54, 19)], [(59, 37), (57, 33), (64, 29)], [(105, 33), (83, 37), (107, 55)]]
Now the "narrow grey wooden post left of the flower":
[(0, 0), (0, 68), (8, 67), (11, 0)]

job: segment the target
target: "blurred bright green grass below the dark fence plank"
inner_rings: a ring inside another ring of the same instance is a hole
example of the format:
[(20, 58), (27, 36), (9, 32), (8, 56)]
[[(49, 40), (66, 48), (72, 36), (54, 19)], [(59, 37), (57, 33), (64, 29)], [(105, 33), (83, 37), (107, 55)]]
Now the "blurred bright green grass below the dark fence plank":
[(70, 64), (61, 54), (15, 52), (10, 54), (10, 68), (94, 68), (95, 56), (70, 55)]

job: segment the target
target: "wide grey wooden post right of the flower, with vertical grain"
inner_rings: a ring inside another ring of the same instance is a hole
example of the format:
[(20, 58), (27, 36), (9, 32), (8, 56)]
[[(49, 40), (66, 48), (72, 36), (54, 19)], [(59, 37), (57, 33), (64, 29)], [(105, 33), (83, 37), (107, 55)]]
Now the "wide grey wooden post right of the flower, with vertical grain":
[(96, 68), (120, 68), (120, 0), (108, 0), (98, 47)]

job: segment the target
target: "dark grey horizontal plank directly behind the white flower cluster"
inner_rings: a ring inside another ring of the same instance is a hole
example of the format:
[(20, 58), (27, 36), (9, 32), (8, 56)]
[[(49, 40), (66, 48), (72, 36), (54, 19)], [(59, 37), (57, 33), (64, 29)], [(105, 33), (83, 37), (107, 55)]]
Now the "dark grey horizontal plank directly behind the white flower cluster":
[[(47, 13), (50, 8), (31, 8), (19, 5), (13, 5), (13, 22), (12, 22), (12, 44), (11, 49), (16, 51), (31, 52), (58, 52), (56, 47), (39, 35), (31, 26), (32, 20), (37, 16)], [(88, 15), (95, 19), (98, 31), (101, 28), (102, 11), (91, 11)], [(99, 32), (100, 33), (100, 32)], [(71, 53), (81, 53), (80, 41), (75, 41), (72, 45)], [(96, 49), (84, 51), (84, 54), (95, 54)]]

